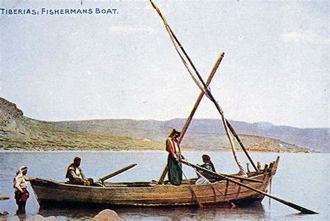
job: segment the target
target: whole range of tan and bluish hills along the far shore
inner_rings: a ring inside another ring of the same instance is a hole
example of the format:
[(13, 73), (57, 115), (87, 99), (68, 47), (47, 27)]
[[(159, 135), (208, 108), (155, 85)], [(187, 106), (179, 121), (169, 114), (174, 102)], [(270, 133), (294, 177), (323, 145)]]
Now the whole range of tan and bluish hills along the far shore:
[[(184, 119), (44, 122), (25, 117), (15, 104), (0, 98), (0, 149), (164, 149), (168, 133), (173, 128), (181, 129), (184, 122)], [(328, 152), (328, 136), (323, 136), (327, 129), (296, 129), (266, 122), (230, 122), (237, 133), (241, 133), (246, 148), (252, 151), (313, 152), (306, 148), (313, 147)], [(221, 121), (193, 120), (182, 141), (182, 149), (228, 150)]]

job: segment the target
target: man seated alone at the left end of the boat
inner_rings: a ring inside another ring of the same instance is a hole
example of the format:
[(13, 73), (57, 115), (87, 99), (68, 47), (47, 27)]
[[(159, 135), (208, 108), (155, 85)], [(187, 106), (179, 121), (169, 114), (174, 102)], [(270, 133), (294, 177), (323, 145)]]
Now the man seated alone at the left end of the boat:
[(93, 179), (86, 178), (81, 168), (81, 158), (79, 156), (74, 157), (73, 162), (68, 166), (66, 170), (65, 178), (69, 179), (68, 183), (91, 186), (93, 184)]

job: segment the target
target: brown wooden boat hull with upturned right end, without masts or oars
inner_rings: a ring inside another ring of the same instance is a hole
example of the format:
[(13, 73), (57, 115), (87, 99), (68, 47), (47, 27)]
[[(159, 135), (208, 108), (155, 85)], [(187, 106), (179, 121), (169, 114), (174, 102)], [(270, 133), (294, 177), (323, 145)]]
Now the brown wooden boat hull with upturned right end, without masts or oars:
[[(246, 181), (234, 179), (253, 188), (267, 192), (269, 181), (276, 173), (278, 158), (264, 170), (252, 172)], [(230, 176), (230, 175), (228, 175)], [(233, 182), (222, 180), (212, 183), (194, 184), (196, 179), (184, 180), (173, 186), (165, 181), (136, 181), (110, 183), (104, 187), (77, 186), (49, 179), (34, 178), (30, 183), (40, 206), (194, 206), (199, 201), (204, 205), (230, 205), (240, 202), (261, 201), (265, 195), (244, 188)], [(192, 189), (191, 189), (192, 188)], [(196, 197), (198, 201), (196, 200)]]

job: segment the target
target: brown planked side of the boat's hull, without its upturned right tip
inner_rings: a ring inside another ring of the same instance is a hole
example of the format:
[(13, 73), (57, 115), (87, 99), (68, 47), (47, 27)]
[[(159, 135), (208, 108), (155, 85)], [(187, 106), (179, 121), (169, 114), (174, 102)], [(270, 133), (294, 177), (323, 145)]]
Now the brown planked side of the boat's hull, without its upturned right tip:
[[(253, 179), (260, 179), (263, 183), (244, 181), (254, 188), (265, 191), (269, 182), (269, 175), (260, 174)], [(137, 187), (89, 187), (75, 186), (44, 179), (31, 181), (40, 205), (45, 204), (109, 204), (126, 206), (178, 206), (193, 205), (193, 198), (189, 186), (155, 185)], [(228, 201), (241, 199), (260, 199), (260, 195), (253, 190), (240, 187), (235, 183), (219, 181), (192, 185), (202, 204), (228, 204)], [(239, 193), (238, 193), (239, 190)], [(238, 193), (238, 194), (237, 194)], [(263, 197), (262, 197), (263, 198)], [(261, 198), (261, 199), (262, 199)]]

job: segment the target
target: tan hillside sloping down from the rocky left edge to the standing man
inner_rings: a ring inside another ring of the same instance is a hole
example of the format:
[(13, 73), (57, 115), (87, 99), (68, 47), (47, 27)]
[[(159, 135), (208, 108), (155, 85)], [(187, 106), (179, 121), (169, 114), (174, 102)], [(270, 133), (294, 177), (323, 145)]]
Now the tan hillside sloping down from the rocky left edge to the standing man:
[[(81, 122), (84, 124), (84, 122)], [(161, 142), (111, 133), (90, 133), (56, 122), (24, 117), (15, 104), (0, 97), (0, 149), (6, 150), (125, 150), (162, 149)]]

